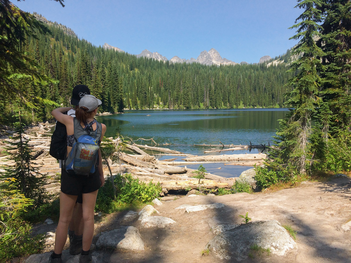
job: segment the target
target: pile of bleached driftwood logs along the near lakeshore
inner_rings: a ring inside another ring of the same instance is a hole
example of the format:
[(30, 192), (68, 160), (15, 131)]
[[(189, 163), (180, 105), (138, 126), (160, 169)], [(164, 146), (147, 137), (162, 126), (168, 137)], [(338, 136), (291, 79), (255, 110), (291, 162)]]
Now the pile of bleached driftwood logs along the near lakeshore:
[[(59, 192), (60, 183), (58, 182), (61, 169), (56, 159), (48, 154), (49, 145), (51, 142), (50, 131), (54, 129), (55, 124), (41, 123), (33, 128), (27, 129), (24, 138), (30, 139), (29, 145), (33, 148), (33, 161), (43, 174), (48, 174), (48, 192)], [(112, 138), (110, 138), (112, 139)], [(6, 140), (0, 140), (1, 146), (6, 145)], [(120, 143), (119, 139), (112, 139), (112, 143)], [(2, 144), (2, 145), (1, 145)], [(233, 147), (227, 150), (233, 150)], [(110, 171), (113, 175), (118, 173), (131, 173), (132, 176), (139, 178), (141, 181), (160, 182), (163, 192), (166, 194), (169, 190), (180, 189), (196, 189), (199, 187), (199, 180), (192, 178), (194, 174), (193, 169), (179, 167), (179, 165), (186, 164), (201, 164), (201, 163), (215, 163), (221, 162), (225, 164), (239, 164), (239, 165), (252, 165), (261, 164), (263, 159), (266, 159), (265, 154), (232, 154), (232, 155), (205, 155), (194, 156), (184, 154), (179, 151), (174, 151), (167, 148), (152, 147), (140, 144), (127, 144), (123, 149), (133, 154), (125, 152), (118, 152), (118, 162), (107, 160), (109, 169), (105, 168), (105, 175), (109, 176)], [(150, 152), (148, 154), (146, 151)], [(177, 158), (159, 161), (153, 154), (164, 154), (171, 156), (184, 156), (183, 162), (174, 161)], [(6, 156), (0, 156), (0, 165), (11, 165), (12, 160), (7, 160)], [(205, 179), (201, 180), (201, 187), (208, 189), (215, 188), (229, 188), (235, 182), (235, 178), (225, 178), (217, 175), (207, 173)]]

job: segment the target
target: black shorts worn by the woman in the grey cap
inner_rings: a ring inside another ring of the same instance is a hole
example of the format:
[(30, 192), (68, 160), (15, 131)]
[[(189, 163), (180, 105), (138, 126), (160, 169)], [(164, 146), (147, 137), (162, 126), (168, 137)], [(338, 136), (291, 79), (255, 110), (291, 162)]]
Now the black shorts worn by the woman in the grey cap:
[(98, 169), (89, 176), (69, 174), (65, 169), (61, 169), (61, 191), (67, 195), (78, 195), (78, 203), (83, 202), (82, 197), (80, 199), (81, 194), (94, 192), (100, 186), (101, 181)]

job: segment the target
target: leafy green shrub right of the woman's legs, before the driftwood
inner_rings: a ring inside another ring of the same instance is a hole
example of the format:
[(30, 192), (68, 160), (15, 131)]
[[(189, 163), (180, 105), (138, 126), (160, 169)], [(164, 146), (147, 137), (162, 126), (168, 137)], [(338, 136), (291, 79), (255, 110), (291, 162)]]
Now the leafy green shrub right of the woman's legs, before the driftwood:
[(117, 175), (114, 178), (117, 188), (117, 196), (113, 196), (111, 181), (106, 181), (104, 187), (98, 192), (95, 210), (103, 213), (111, 213), (125, 204), (149, 203), (161, 193), (161, 185), (152, 181), (141, 182), (130, 174), (125, 176)]

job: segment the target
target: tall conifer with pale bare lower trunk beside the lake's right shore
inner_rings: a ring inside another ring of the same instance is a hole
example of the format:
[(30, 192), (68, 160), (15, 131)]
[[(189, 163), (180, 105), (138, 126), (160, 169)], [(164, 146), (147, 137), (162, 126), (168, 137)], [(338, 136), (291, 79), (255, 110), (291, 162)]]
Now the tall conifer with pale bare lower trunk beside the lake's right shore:
[[(297, 28), (297, 34), (291, 39), (300, 39), (293, 50), (293, 55), (299, 56), (291, 65), (290, 72), (295, 72), (287, 85), (293, 87), (289, 93), (291, 98), (287, 103), (294, 107), (287, 119), (280, 123), (277, 132), (279, 147), (282, 149), (275, 156), (276, 164), (282, 167), (296, 167), (300, 174), (306, 173), (306, 158), (308, 141), (311, 135), (311, 116), (316, 112), (319, 103), (318, 87), (320, 78), (316, 68), (320, 68), (322, 50), (317, 47), (314, 37), (320, 29), (321, 6), (319, 0), (298, 0), (296, 7), (303, 8), (304, 12), (296, 19), (302, 20), (291, 28)], [(276, 165), (274, 164), (274, 165)]]

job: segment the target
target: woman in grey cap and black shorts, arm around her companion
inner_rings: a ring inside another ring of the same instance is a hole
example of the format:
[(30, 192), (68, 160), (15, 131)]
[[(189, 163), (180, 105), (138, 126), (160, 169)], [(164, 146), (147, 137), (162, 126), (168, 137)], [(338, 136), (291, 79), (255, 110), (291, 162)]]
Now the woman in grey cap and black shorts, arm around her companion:
[[(85, 95), (79, 101), (79, 109), (75, 112), (75, 118), (66, 114), (68, 108), (58, 108), (52, 111), (52, 115), (56, 120), (65, 124), (67, 129), (67, 156), (72, 146), (78, 138), (74, 137), (74, 131), (84, 130), (87, 134), (94, 134), (97, 143), (100, 144), (104, 137), (106, 126), (94, 120), (101, 101), (93, 95)], [(102, 171), (102, 159), (100, 149), (98, 151), (98, 159), (95, 164), (95, 171), (91, 174), (80, 175), (76, 173), (68, 173), (62, 169), (61, 174), (61, 193), (60, 193), (60, 218), (56, 229), (55, 249), (50, 256), (51, 263), (62, 263), (61, 255), (67, 240), (68, 225), (71, 221), (72, 211), (77, 196), (83, 196), (83, 248), (80, 254), (79, 263), (89, 263), (92, 261), (90, 245), (94, 234), (94, 207), (98, 194), (98, 189), (104, 185), (104, 173)]]

